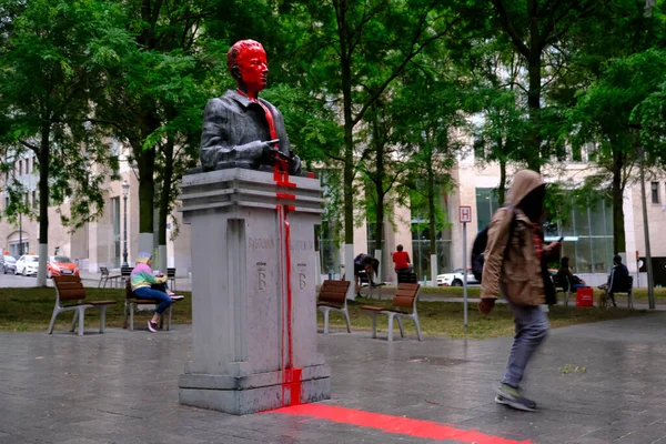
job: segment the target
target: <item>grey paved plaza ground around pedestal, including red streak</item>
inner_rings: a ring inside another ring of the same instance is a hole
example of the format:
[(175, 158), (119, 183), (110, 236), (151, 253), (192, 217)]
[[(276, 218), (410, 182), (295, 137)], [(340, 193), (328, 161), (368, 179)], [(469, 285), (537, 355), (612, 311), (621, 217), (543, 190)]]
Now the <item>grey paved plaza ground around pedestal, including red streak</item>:
[(553, 331), (538, 413), (493, 402), (509, 337), (320, 334), (333, 398), (236, 417), (179, 404), (190, 326), (88, 331), (0, 333), (0, 443), (666, 443), (663, 312)]

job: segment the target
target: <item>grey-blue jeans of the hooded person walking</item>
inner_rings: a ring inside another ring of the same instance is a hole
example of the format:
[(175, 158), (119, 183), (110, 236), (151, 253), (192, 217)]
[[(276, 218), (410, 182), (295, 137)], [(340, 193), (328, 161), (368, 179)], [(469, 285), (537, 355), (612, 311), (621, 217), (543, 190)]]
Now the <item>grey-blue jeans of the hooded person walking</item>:
[(516, 335), (508, 354), (506, 364), (506, 374), (503, 384), (517, 389), (523, 381), (525, 367), (529, 359), (544, 342), (548, 334), (548, 316), (538, 305), (514, 305), (508, 302), (508, 306), (514, 313), (514, 323), (516, 324)]

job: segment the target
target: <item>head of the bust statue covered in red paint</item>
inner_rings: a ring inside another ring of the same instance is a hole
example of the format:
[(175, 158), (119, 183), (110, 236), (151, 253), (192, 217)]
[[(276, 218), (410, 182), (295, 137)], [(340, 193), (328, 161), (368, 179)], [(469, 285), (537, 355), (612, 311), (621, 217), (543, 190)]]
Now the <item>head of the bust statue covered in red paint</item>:
[(260, 42), (241, 40), (226, 53), (226, 65), (238, 88), (248, 97), (256, 99), (259, 91), (266, 88), (269, 65), (266, 52)]

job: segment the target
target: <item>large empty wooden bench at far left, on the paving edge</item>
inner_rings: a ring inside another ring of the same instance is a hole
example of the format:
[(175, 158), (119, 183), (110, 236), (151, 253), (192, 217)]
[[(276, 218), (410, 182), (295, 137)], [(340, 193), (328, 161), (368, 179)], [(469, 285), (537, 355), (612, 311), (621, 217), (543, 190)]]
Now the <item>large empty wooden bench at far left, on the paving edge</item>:
[[(99, 309), (100, 310), (100, 333), (104, 333), (104, 324), (107, 322), (107, 307), (115, 305), (117, 301), (91, 301), (85, 299), (85, 289), (81, 283), (81, 278), (77, 275), (67, 276), (53, 276), (53, 284), (56, 285), (56, 306), (53, 307), (53, 314), (51, 315), (51, 323), (47, 333), (53, 333), (53, 325), (56, 325), (56, 317), (62, 312), (74, 312), (74, 319), (72, 320), (72, 327), (70, 332), (74, 331), (77, 325), (77, 319), (79, 320), (79, 336), (83, 336), (83, 319), (85, 310)], [(73, 303), (62, 304), (62, 301), (75, 301)]]

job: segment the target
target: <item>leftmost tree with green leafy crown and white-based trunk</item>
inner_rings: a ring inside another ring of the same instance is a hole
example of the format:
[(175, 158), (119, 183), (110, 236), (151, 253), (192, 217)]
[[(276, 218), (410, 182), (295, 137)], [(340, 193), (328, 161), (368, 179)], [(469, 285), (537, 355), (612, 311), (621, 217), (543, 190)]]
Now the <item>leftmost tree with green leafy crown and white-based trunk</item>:
[[(12, 14), (2, 21), (0, 47), (0, 155), (36, 155), (39, 243), (46, 252), (49, 204), (69, 198), (70, 212), (62, 218), (74, 228), (101, 214), (100, 184), (115, 161), (88, 118), (128, 34), (118, 27), (117, 8), (104, 1), (3, 1), (0, 10)], [(41, 254), (40, 285), (46, 260)]]

